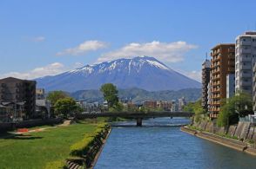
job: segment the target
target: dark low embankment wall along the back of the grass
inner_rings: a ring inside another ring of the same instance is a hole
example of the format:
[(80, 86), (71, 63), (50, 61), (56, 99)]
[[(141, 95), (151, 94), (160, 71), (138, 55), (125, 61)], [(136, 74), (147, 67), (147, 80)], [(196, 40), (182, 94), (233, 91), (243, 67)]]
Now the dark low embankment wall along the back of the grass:
[(15, 130), (16, 128), (23, 127), (38, 127), (44, 125), (55, 125), (63, 122), (63, 119), (47, 119), (47, 120), (25, 120), (16, 123), (0, 123), (0, 133), (10, 130)]

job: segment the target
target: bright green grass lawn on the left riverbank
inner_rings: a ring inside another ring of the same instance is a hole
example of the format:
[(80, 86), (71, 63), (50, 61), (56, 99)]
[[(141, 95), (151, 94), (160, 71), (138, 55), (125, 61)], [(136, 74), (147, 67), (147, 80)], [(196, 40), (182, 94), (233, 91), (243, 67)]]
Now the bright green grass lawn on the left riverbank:
[(73, 144), (96, 130), (97, 124), (87, 122), (0, 139), (0, 168), (45, 168), (62, 163)]

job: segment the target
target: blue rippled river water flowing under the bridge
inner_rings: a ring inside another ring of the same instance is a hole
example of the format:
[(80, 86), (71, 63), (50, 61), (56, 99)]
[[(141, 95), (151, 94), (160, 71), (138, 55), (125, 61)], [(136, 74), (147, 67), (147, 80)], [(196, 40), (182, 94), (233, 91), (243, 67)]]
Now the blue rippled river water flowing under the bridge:
[[(256, 157), (183, 133), (173, 125), (190, 121), (158, 118), (118, 122), (100, 154), (96, 169), (256, 168)], [(124, 127), (123, 127), (124, 126)]]

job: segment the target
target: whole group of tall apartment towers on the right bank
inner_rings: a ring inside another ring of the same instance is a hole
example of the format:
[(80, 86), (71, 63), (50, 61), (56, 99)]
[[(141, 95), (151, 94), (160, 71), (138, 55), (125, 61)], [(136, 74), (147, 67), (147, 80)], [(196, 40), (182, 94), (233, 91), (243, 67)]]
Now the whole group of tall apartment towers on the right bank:
[(235, 43), (212, 48), (211, 61), (202, 66), (202, 107), (217, 118), (221, 101), (240, 92), (252, 95), (256, 111), (256, 32), (237, 36)]

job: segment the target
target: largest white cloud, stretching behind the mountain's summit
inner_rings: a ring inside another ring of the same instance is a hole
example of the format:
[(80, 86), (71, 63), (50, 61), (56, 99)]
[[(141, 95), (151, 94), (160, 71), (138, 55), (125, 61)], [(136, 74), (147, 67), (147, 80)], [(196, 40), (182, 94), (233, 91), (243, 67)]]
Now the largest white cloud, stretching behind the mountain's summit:
[(119, 58), (132, 58), (138, 55), (153, 56), (164, 62), (181, 62), (184, 60), (184, 55), (191, 49), (198, 47), (187, 42), (131, 42), (121, 49), (117, 49), (101, 55), (98, 62), (111, 61)]

